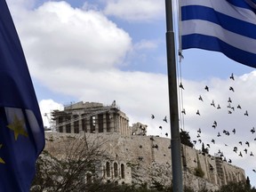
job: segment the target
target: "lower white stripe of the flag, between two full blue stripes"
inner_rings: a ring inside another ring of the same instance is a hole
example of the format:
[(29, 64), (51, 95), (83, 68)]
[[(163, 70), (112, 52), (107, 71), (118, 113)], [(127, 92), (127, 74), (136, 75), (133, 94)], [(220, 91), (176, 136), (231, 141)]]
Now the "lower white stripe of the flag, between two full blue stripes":
[(182, 35), (202, 34), (215, 36), (221, 41), (230, 44), (238, 49), (256, 54), (256, 40), (230, 32), (219, 25), (206, 20), (185, 20), (182, 21)]

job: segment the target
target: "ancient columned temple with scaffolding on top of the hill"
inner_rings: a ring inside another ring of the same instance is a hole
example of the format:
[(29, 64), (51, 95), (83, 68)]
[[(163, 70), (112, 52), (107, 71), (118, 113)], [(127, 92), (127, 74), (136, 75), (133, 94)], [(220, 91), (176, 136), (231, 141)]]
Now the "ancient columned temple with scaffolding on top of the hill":
[(110, 106), (80, 101), (65, 107), (62, 111), (54, 110), (52, 116), (57, 132), (132, 134), (129, 118), (116, 106), (115, 100)]

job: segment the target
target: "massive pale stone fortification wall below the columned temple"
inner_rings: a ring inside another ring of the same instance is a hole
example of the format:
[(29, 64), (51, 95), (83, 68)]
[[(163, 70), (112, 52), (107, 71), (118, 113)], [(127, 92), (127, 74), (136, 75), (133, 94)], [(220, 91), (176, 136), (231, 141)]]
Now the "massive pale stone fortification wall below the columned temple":
[[(82, 134), (83, 136), (84, 134)], [(116, 162), (125, 165), (125, 178), (122, 182), (142, 184), (148, 186), (154, 182), (164, 186), (172, 183), (171, 140), (155, 136), (131, 135), (124, 136), (117, 133), (86, 133), (86, 139), (98, 140), (104, 143), (101, 148), (108, 152), (111, 164)], [(81, 134), (46, 133), (45, 150), (54, 154), (56, 148), (61, 148), (63, 142), (70, 138), (81, 138)], [(54, 156), (63, 156), (65, 150), (55, 153)], [(206, 156), (200, 151), (182, 146), (183, 181), (185, 185), (194, 189), (218, 189), (228, 181), (245, 180), (244, 170), (214, 156)], [(106, 161), (102, 160), (102, 170), (106, 169)], [(210, 165), (211, 164), (211, 165)], [(196, 177), (195, 169), (202, 169), (204, 178)], [(118, 172), (121, 172), (118, 168)], [(103, 174), (103, 171), (102, 171)]]

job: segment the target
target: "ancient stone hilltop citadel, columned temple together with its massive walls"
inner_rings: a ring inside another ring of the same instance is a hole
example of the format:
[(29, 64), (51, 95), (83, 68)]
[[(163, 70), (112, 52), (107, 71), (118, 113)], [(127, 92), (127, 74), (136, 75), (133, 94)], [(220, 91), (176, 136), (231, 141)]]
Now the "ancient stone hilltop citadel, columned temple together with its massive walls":
[[(57, 132), (46, 133), (45, 150), (53, 156), (65, 156), (63, 143), (68, 143), (68, 138), (79, 140), (82, 135), (88, 141), (104, 143), (101, 148), (108, 152), (108, 159), (102, 159), (99, 166), (99, 176), (103, 180), (171, 185), (171, 140), (146, 136), (145, 124), (129, 127), (129, 118), (116, 107), (115, 101), (111, 106), (79, 102), (63, 111), (53, 111), (52, 116)], [(220, 156), (208, 156), (188, 146), (182, 146), (181, 153), (184, 184), (191, 188), (214, 190), (229, 181), (245, 180), (243, 169), (228, 164)]]

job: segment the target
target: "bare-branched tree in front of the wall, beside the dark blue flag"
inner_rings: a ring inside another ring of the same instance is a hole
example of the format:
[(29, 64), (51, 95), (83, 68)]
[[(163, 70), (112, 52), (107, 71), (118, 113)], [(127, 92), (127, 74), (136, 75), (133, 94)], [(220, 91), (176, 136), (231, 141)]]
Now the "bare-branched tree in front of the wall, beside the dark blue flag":
[[(105, 142), (87, 141), (88, 138), (69, 137), (58, 148), (62, 157), (57, 159), (45, 151), (36, 164), (36, 178), (31, 191), (78, 192), (100, 191), (102, 178), (97, 167), (103, 159), (108, 159), (101, 148)], [(58, 151), (55, 151), (55, 155)], [(93, 182), (92, 182), (93, 179)]]

